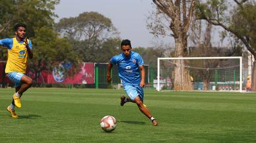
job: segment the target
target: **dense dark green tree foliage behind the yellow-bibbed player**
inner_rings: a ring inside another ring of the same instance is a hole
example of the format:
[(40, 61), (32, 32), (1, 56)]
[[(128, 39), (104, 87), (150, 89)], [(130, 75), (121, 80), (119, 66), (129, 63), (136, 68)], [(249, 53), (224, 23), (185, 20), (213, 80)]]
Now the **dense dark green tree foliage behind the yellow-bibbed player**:
[[(30, 68), (36, 73), (51, 70), (60, 62), (73, 62), (75, 68), (79, 56), (75, 54), (73, 46), (67, 39), (59, 38), (53, 31), (53, 10), (59, 0), (19, 0), (0, 1), (0, 37), (13, 37), (13, 26), (17, 22), (26, 24), (26, 35), (32, 40), (34, 58), (30, 61)], [(6, 48), (1, 51), (1, 60), (7, 59)], [(71, 73), (72, 73), (71, 72)], [(38, 74), (36, 74), (38, 75)]]

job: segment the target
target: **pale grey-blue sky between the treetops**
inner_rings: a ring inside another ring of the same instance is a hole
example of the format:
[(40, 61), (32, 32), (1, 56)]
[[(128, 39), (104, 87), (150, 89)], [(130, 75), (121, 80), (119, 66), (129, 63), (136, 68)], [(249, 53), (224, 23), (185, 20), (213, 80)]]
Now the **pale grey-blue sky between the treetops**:
[(154, 43), (172, 43), (172, 37), (156, 39), (146, 28), (146, 20), (154, 5), (150, 0), (61, 0), (55, 7), (59, 18), (96, 11), (112, 20), (121, 39), (130, 39), (132, 47), (153, 47)]

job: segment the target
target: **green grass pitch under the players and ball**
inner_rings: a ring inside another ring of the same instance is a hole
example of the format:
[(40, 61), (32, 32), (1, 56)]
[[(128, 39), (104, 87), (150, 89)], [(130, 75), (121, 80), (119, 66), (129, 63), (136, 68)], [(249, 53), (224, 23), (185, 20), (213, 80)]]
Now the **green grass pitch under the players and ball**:
[[(123, 90), (29, 89), (13, 119), (6, 108), (14, 89), (0, 89), (0, 142), (256, 142), (256, 94), (157, 92), (144, 104), (153, 127), (135, 104), (120, 106)], [(117, 128), (100, 129), (113, 115)]]

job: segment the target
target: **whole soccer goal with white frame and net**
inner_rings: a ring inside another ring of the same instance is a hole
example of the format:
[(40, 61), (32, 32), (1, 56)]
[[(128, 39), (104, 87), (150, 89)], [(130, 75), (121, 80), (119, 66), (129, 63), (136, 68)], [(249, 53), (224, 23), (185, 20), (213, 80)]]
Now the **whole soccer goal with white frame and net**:
[[(180, 64), (183, 68), (177, 69)], [(182, 73), (185, 76), (177, 79), (177, 75)], [(189, 77), (193, 90), (242, 92), (242, 57), (158, 58), (157, 91), (169, 87), (175, 90), (177, 82), (181, 83), (179, 86), (183, 86), (183, 82), (185, 79), (189, 80)]]

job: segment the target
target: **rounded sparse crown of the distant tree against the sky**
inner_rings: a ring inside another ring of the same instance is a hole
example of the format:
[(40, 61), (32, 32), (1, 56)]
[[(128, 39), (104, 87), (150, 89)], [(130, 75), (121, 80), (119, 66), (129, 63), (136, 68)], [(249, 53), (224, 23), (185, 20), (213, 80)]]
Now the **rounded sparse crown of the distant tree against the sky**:
[(82, 41), (97, 41), (106, 34), (115, 32), (112, 21), (98, 12), (83, 12), (77, 17), (62, 18), (55, 24), (55, 30), (68, 37)]

